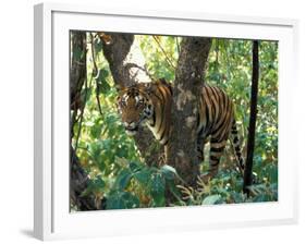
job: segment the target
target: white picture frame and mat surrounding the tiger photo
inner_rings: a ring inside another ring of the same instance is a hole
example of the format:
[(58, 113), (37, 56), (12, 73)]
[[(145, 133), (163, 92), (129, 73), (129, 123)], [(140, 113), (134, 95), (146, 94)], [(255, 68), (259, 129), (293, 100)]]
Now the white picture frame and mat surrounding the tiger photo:
[[(69, 211), (69, 29), (279, 40), (279, 202)], [(40, 240), (196, 231), (297, 221), (297, 21), (208, 13), (35, 5), (34, 234)], [(133, 224), (131, 224), (133, 223)]]

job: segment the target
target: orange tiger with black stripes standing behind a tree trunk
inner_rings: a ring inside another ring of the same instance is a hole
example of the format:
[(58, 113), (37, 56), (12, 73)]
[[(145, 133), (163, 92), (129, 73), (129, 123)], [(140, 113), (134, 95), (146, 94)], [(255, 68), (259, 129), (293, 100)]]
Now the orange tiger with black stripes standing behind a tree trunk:
[[(172, 87), (163, 78), (120, 88), (118, 110), (128, 135), (135, 135), (146, 123), (155, 138), (167, 148), (171, 130)], [(206, 180), (218, 173), (228, 139), (232, 141), (238, 169), (244, 169), (238, 132), (231, 98), (217, 86), (204, 85), (198, 101), (197, 157), (204, 161), (205, 144), (210, 142), (209, 170)], [(167, 161), (167, 160), (166, 160)]]

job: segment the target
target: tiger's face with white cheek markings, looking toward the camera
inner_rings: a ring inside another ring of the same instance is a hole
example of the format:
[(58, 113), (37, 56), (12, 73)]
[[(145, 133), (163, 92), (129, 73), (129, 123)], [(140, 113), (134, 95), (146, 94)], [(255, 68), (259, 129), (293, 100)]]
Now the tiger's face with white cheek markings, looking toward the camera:
[(139, 125), (154, 113), (148, 95), (137, 86), (139, 85), (123, 88), (117, 101), (123, 126), (128, 135), (135, 135)]

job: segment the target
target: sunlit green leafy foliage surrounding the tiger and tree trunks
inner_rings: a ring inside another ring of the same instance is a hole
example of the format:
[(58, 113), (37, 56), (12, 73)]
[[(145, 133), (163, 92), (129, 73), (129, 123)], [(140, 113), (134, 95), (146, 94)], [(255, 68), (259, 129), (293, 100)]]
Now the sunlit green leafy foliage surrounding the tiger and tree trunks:
[[(250, 197), (242, 192), (242, 175), (236, 171), (232, 148), (225, 148), (218, 175), (198, 187), (184, 185), (170, 166), (148, 167), (133, 141), (125, 134), (115, 108), (117, 90), (102, 53), (102, 44), (88, 36), (87, 86), (82, 88), (85, 102), (82, 123), (73, 127), (72, 146), (82, 167), (90, 176), (83, 195), (106, 199), (106, 209), (163, 206), (212, 205), (278, 200), (278, 42), (260, 41), (260, 81), (254, 185)], [(181, 37), (136, 36), (146, 59), (148, 73), (174, 80)], [(81, 56), (79, 50), (73, 50)], [(97, 65), (98, 72), (95, 71)], [(249, 114), (252, 41), (212, 40), (206, 70), (206, 83), (222, 87), (234, 100), (242, 148), (245, 156)], [(98, 100), (101, 113), (98, 109)], [(79, 134), (77, 133), (79, 131)], [(76, 143), (77, 142), (77, 143)], [(206, 155), (209, 147), (206, 147)], [(208, 170), (208, 160), (201, 171)], [(158, 163), (157, 163), (158, 164)], [(168, 203), (167, 196), (171, 196)]]

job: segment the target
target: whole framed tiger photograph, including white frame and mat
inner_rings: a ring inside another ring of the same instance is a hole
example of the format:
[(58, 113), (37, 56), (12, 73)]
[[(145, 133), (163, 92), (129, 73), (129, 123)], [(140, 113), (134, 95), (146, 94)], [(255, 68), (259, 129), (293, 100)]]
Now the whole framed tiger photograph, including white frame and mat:
[(35, 5), (35, 236), (296, 222), (296, 33)]

